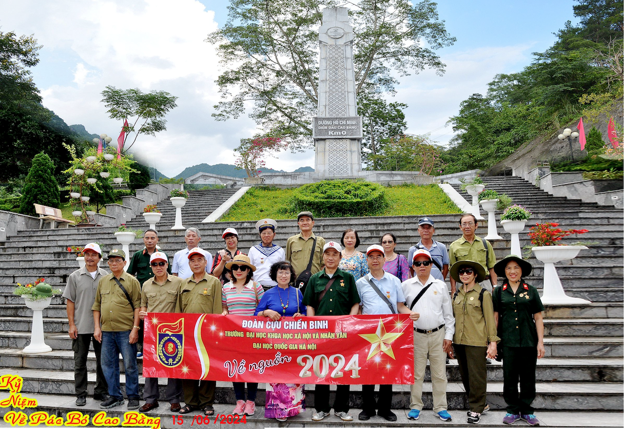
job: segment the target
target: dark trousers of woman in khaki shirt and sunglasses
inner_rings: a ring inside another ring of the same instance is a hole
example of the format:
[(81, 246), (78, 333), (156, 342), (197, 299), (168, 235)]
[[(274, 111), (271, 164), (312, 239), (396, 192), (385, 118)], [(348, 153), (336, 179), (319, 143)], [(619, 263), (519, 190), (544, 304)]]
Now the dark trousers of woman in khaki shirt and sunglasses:
[(482, 413), (485, 408), (485, 391), (487, 389), (487, 363), (485, 353), (487, 347), (453, 344), (455, 357), (459, 364), (464, 390), (468, 396), (470, 411)]

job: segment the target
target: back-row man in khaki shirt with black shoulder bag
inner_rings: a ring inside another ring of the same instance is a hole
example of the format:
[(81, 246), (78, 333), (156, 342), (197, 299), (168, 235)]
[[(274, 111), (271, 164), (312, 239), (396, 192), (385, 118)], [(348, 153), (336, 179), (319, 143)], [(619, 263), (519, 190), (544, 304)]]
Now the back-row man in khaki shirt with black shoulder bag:
[[(289, 237), (288, 241), (286, 241), (286, 261), (290, 261), (298, 276), (308, 268), (310, 256), (314, 253), (310, 272), (316, 274), (316, 272), (321, 271), (323, 267), (321, 249), (323, 249), (325, 245), (325, 239), (314, 235), (312, 232), (312, 228), (314, 228), (314, 216), (310, 211), (302, 211), (299, 213), (297, 216), (297, 225), (301, 233)], [(313, 249), (314, 238), (316, 238), (316, 246), (314, 246)]]

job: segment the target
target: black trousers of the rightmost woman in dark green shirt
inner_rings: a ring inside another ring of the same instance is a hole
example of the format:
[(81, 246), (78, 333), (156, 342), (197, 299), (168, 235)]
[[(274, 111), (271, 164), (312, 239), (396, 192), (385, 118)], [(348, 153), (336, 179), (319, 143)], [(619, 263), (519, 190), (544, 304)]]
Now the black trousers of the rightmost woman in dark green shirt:
[(503, 398), (508, 413), (533, 414), (536, 366), (537, 347), (503, 347)]

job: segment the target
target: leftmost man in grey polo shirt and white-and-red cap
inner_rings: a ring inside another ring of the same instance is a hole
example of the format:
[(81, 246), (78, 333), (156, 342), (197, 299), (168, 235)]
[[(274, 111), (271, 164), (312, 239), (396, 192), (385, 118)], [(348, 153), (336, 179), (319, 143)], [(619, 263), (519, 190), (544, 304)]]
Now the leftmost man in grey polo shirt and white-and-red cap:
[(95, 400), (107, 400), (109, 388), (102, 372), (100, 355), (102, 345), (95, 340), (93, 332), (95, 324), (91, 307), (95, 302), (95, 291), (100, 279), (108, 274), (97, 264), (102, 259), (102, 249), (97, 243), (84, 246), (84, 267), (69, 274), (63, 297), (67, 299), (67, 320), (69, 321), (69, 337), (74, 350), (74, 385), (76, 386), (76, 405), (82, 407), (87, 403), (87, 355), (89, 345), (93, 344), (96, 362)]

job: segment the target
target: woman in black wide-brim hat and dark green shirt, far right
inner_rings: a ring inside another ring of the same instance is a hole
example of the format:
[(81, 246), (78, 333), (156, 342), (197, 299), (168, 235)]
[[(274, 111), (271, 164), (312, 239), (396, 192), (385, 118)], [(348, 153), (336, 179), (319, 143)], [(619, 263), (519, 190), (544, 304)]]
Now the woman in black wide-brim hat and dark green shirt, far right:
[(545, 354), (544, 306), (537, 289), (524, 280), (532, 269), (529, 261), (515, 255), (505, 256), (494, 266), (497, 276), (505, 279), (494, 289), (492, 301), (501, 339), (499, 359), (503, 360), (503, 398), (507, 403), (503, 423), (508, 425), (520, 419), (539, 425), (531, 403), (535, 399), (537, 359)]

